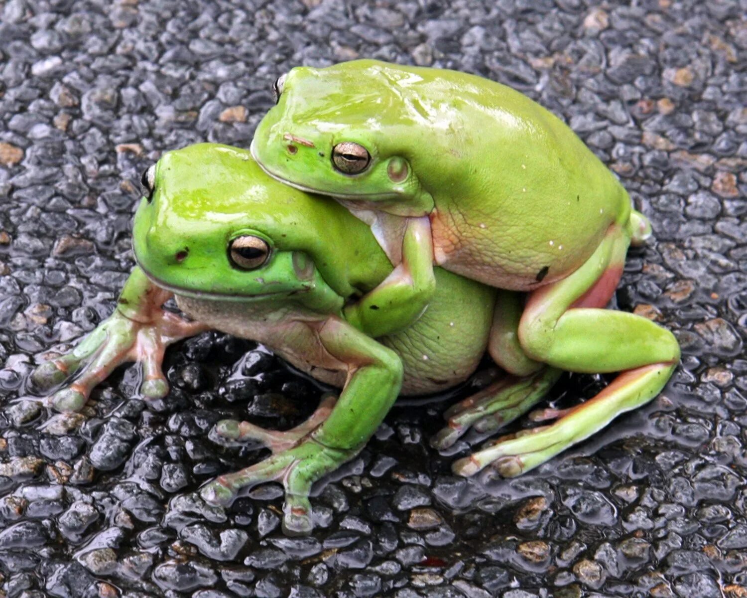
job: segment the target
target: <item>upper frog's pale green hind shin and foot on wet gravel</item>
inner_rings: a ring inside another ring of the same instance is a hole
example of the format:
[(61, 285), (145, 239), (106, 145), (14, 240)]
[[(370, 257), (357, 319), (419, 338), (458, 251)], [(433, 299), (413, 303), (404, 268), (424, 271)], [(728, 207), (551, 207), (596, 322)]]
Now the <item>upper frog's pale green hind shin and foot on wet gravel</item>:
[(506, 478), (521, 475), (595, 434), (621, 413), (650, 401), (674, 370), (673, 363), (654, 363), (623, 372), (589, 401), (570, 410), (547, 413), (560, 416), (554, 424), (488, 443), (482, 450), (453, 463), (453, 472), (471, 476), (492, 466)]

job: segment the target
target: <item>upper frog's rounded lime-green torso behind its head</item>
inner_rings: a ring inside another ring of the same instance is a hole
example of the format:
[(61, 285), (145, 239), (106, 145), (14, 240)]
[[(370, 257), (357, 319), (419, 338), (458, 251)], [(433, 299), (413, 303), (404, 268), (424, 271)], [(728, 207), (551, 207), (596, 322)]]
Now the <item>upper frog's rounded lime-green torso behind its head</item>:
[(611, 224), (627, 224), (627, 192), (550, 111), (476, 75), (394, 68), (412, 75), (404, 101), (432, 124), (408, 140), (408, 158), (435, 200), (439, 265), (530, 290), (570, 274)]

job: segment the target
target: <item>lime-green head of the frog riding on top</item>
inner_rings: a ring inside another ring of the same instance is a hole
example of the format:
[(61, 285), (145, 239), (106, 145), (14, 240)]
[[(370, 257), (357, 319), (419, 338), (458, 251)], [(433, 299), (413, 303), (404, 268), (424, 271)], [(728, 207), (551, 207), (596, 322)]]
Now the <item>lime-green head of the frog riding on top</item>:
[(252, 155), (305, 191), (428, 213), (433, 199), (417, 172), (424, 165), (413, 163), (423, 128), (413, 125), (430, 108), (407, 93), (417, 79), (378, 61), (294, 68), (273, 84), (277, 105), (259, 124)]

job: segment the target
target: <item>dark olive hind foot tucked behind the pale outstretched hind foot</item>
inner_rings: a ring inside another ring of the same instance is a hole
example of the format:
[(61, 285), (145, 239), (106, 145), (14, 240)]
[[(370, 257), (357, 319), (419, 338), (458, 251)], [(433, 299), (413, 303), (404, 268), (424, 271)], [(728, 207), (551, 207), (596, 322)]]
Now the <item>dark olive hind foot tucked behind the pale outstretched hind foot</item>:
[(545, 368), (523, 378), (506, 376), (465, 398), (444, 413), (447, 426), (431, 439), (431, 446), (448, 448), (470, 428), (480, 433), (498, 430), (542, 400), (560, 373), (559, 369)]

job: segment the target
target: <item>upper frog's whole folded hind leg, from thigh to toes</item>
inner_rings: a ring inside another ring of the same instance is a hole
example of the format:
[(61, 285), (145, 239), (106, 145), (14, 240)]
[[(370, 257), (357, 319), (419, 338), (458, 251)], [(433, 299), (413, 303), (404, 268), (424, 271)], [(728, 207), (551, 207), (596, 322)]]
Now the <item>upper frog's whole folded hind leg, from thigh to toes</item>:
[(530, 295), (518, 327), (521, 347), (533, 360), (571, 372), (622, 374), (586, 403), (558, 413), (554, 424), (456, 461), (456, 473), (474, 475), (492, 464), (501, 475), (519, 475), (647, 403), (666, 385), (680, 357), (675, 336), (638, 315), (600, 309), (617, 286), (629, 241), (629, 231), (610, 227), (577, 271)]

